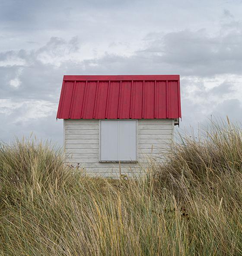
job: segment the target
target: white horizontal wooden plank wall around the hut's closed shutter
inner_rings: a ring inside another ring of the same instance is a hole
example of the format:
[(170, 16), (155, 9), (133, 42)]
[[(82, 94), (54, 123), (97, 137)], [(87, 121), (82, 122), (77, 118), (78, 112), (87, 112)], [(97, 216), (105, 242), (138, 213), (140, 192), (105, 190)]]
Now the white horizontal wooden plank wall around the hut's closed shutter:
[(67, 163), (74, 167), (79, 163), (89, 175), (118, 177), (140, 175), (151, 162), (162, 161), (162, 155), (171, 148), (174, 136), (173, 119), (138, 120), (138, 162), (99, 162), (99, 120), (64, 120), (64, 148)]

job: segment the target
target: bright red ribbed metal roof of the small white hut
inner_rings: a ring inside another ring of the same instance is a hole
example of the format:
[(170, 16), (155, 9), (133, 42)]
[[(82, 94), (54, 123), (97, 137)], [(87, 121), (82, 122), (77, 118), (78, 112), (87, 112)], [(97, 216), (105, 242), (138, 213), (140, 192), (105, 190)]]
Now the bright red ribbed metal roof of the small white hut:
[(64, 75), (57, 118), (180, 118), (179, 75)]

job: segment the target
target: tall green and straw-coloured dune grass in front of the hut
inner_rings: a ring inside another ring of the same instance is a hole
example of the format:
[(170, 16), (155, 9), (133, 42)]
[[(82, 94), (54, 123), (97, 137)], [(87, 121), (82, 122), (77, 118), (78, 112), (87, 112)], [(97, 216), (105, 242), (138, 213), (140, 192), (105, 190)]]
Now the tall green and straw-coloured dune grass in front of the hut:
[(0, 147), (0, 255), (241, 255), (242, 131), (186, 136), (141, 179), (90, 178), (49, 144)]

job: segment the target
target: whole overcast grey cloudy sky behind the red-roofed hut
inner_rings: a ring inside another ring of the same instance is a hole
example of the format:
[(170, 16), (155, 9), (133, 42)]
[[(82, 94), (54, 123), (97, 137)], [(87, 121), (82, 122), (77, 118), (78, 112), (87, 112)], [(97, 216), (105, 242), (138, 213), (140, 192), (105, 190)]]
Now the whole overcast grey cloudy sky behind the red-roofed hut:
[(0, 0), (0, 141), (62, 145), (63, 75), (180, 74), (180, 129), (242, 119), (242, 0)]

